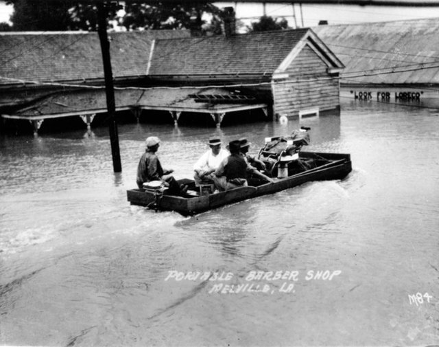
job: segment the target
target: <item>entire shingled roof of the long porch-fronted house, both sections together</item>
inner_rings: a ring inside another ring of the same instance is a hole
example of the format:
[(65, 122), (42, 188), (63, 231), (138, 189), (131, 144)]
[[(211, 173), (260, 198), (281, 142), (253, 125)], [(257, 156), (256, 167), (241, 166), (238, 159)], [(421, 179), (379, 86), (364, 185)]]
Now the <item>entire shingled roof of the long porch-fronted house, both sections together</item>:
[[(270, 76), (294, 48), (308, 38), (331, 56), (309, 28), (257, 32), (231, 37), (188, 37), (187, 30), (112, 32), (110, 56), (114, 78), (139, 76)], [(104, 78), (95, 32), (0, 33), (0, 76), (35, 82), (80, 82)], [(0, 78), (0, 85), (16, 84)]]

